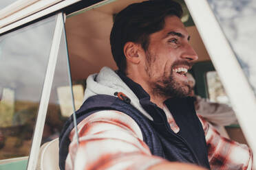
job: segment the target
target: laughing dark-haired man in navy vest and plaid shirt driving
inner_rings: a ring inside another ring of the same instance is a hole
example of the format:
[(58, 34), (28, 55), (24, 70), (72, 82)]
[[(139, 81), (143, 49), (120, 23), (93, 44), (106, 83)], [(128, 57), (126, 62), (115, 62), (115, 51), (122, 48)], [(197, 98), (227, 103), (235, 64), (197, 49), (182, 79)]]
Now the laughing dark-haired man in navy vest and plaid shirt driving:
[(162, 0), (116, 16), (110, 42), (119, 70), (88, 77), (79, 144), (72, 118), (60, 136), (61, 169), (250, 169), (250, 149), (198, 119), (186, 97), (198, 56), (181, 16), (178, 3)]

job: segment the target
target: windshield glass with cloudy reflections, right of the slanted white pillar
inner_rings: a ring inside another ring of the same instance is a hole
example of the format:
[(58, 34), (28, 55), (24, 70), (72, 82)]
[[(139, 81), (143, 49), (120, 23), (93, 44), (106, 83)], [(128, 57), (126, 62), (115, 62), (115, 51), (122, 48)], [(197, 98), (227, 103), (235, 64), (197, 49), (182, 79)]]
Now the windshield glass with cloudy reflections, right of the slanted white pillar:
[(208, 1), (256, 94), (256, 1)]

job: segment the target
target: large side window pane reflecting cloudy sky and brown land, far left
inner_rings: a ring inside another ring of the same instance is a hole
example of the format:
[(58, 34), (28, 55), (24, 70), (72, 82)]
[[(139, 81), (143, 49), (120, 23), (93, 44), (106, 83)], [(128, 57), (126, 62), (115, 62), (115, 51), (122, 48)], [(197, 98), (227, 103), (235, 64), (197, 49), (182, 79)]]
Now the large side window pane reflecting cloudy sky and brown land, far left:
[(0, 37), (0, 160), (28, 156), (55, 16)]

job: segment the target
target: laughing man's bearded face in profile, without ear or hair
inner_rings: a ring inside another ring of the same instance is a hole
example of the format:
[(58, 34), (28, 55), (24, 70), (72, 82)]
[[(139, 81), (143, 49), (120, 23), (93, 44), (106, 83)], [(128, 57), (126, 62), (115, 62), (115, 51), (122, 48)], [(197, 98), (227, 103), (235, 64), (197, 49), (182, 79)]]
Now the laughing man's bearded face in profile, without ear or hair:
[(149, 47), (145, 51), (145, 80), (153, 95), (184, 97), (191, 88), (186, 72), (192, 62), (198, 60), (189, 45), (189, 34), (177, 16), (167, 16), (159, 32), (149, 36)]

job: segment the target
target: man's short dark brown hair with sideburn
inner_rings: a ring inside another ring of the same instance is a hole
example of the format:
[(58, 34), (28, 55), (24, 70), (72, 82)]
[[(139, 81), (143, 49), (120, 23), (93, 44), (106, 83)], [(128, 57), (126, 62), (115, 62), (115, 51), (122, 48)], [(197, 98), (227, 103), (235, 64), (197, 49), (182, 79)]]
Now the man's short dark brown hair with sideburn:
[(119, 12), (110, 34), (112, 55), (118, 69), (125, 73), (127, 63), (123, 48), (126, 42), (136, 42), (146, 51), (149, 35), (164, 27), (166, 16), (182, 16), (182, 7), (171, 0), (133, 3)]

